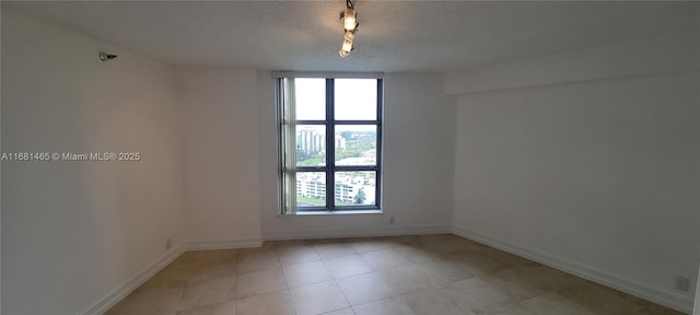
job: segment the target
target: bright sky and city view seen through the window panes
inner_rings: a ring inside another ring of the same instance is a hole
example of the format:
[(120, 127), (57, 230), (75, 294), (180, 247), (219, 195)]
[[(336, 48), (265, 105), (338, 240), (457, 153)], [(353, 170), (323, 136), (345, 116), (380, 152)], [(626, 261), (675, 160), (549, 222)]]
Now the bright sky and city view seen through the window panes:
[[(329, 119), (334, 135), (327, 139), (326, 80), (295, 80), (296, 205), (300, 210), (327, 206), (327, 172), (332, 172), (336, 207), (377, 203), (377, 128), (381, 125), (376, 80), (334, 81), (335, 119)], [(332, 167), (326, 165), (329, 149), (334, 150)]]

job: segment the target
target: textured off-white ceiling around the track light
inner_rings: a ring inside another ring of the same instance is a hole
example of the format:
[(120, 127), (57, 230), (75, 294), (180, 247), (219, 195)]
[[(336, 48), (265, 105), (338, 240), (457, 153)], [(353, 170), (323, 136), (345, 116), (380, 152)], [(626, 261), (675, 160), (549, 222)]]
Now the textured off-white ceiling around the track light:
[(700, 34), (700, 2), (362, 1), (340, 59), (345, 1), (2, 1), (172, 63), (270, 70), (442, 71), (646, 36)]

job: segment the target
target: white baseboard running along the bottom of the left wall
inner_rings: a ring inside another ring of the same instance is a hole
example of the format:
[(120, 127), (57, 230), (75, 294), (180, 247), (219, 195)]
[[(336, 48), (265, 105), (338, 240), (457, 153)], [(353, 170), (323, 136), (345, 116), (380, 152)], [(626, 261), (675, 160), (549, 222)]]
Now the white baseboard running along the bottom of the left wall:
[(109, 292), (105, 298), (101, 299), (88, 310), (82, 312), (83, 315), (98, 315), (107, 312), (112, 306), (116, 305), (121, 301), (121, 299), (129, 295), (129, 293), (133, 292), (137, 288), (139, 288), (143, 282), (151, 279), (151, 277), (155, 276), (159, 271), (163, 270), (165, 266), (170, 265), (177, 257), (183, 255), (187, 249), (186, 244), (180, 244), (173, 248), (172, 250), (165, 253), (160, 259), (155, 262), (148, 266), (145, 269), (141, 270), (141, 272), (131, 277), (131, 279), (121, 283), (117, 289)]

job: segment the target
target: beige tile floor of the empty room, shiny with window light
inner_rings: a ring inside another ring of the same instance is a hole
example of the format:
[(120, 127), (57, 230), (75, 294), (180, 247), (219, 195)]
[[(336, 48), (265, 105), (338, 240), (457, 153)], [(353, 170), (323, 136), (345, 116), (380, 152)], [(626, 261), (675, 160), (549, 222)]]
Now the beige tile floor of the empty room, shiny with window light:
[(188, 252), (107, 315), (680, 314), (454, 235)]

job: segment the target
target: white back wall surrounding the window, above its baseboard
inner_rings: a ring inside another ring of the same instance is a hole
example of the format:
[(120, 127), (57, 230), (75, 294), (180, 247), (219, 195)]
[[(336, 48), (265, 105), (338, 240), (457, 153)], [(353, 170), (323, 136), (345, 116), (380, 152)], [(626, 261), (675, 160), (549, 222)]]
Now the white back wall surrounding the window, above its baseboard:
[[(442, 75), (384, 78), (384, 214), (277, 215), (273, 80), (258, 75), (262, 231), (266, 240), (450, 232), (454, 97)], [(394, 217), (394, 224), (389, 218)]]

